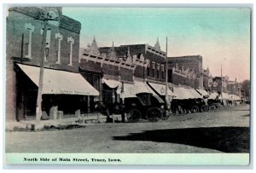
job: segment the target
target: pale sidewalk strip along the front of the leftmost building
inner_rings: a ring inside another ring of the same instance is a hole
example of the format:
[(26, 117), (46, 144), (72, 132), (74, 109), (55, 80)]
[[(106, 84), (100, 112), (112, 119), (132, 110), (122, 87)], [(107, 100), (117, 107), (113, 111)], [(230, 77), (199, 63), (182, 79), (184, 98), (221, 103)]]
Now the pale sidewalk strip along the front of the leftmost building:
[[(99, 122), (98, 117), (99, 116)], [(112, 115), (110, 116), (112, 118)], [(113, 119), (116, 121), (121, 120), (121, 115), (114, 114)], [(71, 124), (78, 124), (78, 125), (85, 125), (85, 124), (98, 124), (98, 123), (106, 123), (107, 116), (103, 116), (101, 113), (97, 115), (97, 113), (86, 113), (82, 118), (78, 117), (71, 117), (71, 118), (62, 118), (62, 119), (49, 119), (49, 120), (41, 120), (40, 124), (38, 125), (38, 129), (42, 130), (45, 126), (65, 126)], [(34, 130), (36, 124), (36, 120), (20, 120), (6, 122), (5, 123), (5, 130)]]

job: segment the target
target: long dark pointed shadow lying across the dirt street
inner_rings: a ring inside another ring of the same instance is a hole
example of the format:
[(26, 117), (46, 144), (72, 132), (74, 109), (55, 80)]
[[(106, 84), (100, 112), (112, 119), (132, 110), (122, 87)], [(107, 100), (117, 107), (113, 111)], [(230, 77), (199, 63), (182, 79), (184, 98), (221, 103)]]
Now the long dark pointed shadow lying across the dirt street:
[(147, 130), (129, 136), (113, 136), (113, 140), (170, 142), (224, 153), (249, 153), (249, 134), (248, 127), (201, 127)]

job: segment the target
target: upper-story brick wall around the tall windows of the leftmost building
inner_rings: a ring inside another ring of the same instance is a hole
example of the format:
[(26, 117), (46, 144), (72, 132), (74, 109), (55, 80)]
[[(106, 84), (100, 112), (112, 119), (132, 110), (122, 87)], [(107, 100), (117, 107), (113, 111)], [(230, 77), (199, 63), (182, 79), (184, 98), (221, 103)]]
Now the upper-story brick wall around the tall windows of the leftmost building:
[[(42, 58), (42, 28), (44, 24), (41, 20), (34, 20), (32, 17), (26, 14), (20, 14), (16, 11), (11, 11), (7, 19), (7, 39), (9, 40), (8, 49), (11, 55), (8, 58), (15, 56), (21, 56), (21, 37), (24, 34), (24, 44), (23, 44), (23, 57), (26, 55), (26, 42), (28, 42), (28, 32), (26, 31), (25, 25), (32, 24), (34, 26), (34, 32), (32, 32), (32, 59), (26, 59), (26, 64), (40, 66)], [(79, 33), (68, 31), (67, 29), (48, 25), (50, 28), (50, 45), (49, 45), (49, 55), (48, 62), (45, 62), (45, 67), (67, 70), (72, 72), (79, 71)], [(57, 56), (56, 49), (58, 49), (58, 42), (55, 39), (55, 33), (61, 33), (61, 65), (56, 64)], [(67, 37), (73, 37), (73, 66), (68, 66), (69, 54), (70, 54), (70, 43), (67, 43)]]

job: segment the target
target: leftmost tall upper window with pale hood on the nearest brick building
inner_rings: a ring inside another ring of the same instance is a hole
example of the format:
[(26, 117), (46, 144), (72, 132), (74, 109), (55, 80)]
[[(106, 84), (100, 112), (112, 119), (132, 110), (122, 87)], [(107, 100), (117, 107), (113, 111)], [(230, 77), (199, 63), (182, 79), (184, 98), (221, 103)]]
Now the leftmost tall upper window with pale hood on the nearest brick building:
[(26, 55), (25, 57), (26, 58), (32, 58), (32, 32), (34, 32), (35, 30), (35, 26), (32, 26), (31, 23), (29, 24), (25, 24), (25, 31), (26, 31), (26, 34), (27, 34), (27, 40), (26, 40), (26, 49), (25, 49), (25, 52), (26, 52)]

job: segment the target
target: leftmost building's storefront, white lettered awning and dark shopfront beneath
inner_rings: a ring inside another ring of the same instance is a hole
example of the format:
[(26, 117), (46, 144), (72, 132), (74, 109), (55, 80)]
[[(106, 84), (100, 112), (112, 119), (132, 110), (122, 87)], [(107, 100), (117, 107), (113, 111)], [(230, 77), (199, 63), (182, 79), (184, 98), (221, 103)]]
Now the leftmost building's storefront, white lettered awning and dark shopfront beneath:
[[(35, 118), (39, 84), (38, 66), (16, 64), (17, 108), (16, 118)], [(51, 107), (72, 117), (76, 111), (91, 112), (94, 97), (99, 92), (79, 73), (44, 68), (42, 111), (49, 115)]]

